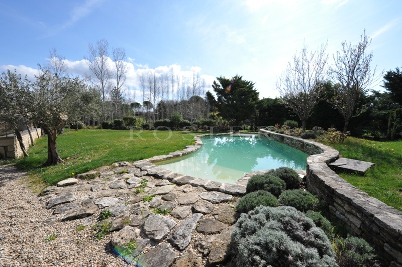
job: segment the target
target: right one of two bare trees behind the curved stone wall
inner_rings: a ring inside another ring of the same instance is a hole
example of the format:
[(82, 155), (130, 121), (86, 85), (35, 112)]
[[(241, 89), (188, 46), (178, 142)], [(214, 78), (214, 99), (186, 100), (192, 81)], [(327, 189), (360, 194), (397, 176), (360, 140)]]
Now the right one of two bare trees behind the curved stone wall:
[(358, 100), (383, 73), (381, 71), (379, 75), (375, 75), (376, 67), (371, 70), (373, 52), (367, 52), (370, 43), (371, 39), (364, 31), (358, 44), (342, 42), (342, 50), (333, 55), (335, 63), (330, 69), (330, 74), (340, 86), (330, 101), (345, 119), (344, 132), (348, 129), (350, 119), (364, 109), (357, 107)]

